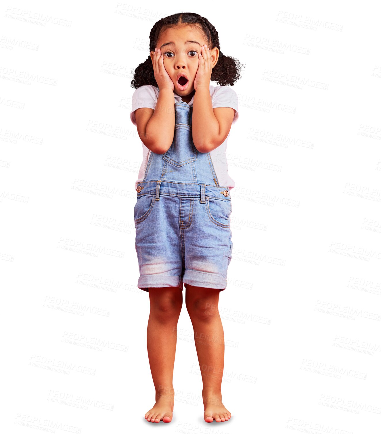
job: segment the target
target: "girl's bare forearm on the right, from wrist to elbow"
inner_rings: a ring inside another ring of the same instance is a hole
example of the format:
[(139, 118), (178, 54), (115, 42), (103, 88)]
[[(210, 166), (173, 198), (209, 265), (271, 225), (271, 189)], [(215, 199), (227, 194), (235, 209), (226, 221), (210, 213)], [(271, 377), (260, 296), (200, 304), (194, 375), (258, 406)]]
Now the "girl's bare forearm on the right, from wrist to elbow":
[(221, 144), (220, 124), (213, 113), (209, 88), (197, 88), (193, 99), (192, 138), (199, 152), (209, 152)]

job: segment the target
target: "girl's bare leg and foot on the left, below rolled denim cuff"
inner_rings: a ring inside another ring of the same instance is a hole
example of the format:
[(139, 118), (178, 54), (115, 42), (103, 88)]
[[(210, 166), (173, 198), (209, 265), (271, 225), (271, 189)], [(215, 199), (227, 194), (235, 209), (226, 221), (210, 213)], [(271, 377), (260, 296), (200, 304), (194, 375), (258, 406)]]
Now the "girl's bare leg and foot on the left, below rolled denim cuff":
[(176, 351), (176, 326), (183, 304), (181, 289), (148, 288), (151, 310), (147, 327), (148, 360), (155, 386), (155, 404), (147, 411), (148, 422), (171, 422), (174, 388), (173, 366)]

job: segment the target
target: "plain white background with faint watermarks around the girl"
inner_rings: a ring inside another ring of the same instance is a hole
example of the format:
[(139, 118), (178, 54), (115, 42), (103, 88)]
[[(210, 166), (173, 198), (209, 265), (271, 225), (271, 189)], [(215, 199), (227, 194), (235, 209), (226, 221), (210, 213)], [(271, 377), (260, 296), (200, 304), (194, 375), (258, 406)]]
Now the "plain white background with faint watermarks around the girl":
[[(3, 432), (379, 430), (381, 58), (370, 5), (1, 6)], [(184, 304), (174, 418), (152, 428), (130, 83), (154, 23), (187, 10), (243, 65), (219, 304), (232, 418), (204, 422)]]

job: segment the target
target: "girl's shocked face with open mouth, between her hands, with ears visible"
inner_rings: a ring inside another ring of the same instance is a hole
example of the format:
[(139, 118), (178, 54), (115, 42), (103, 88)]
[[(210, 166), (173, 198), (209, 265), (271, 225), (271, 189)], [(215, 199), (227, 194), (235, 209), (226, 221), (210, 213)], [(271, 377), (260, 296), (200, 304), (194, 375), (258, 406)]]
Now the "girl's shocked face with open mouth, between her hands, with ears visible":
[[(204, 36), (194, 26), (169, 28), (161, 34), (156, 46), (161, 49), (161, 54), (164, 56), (164, 67), (173, 81), (174, 92), (178, 95), (186, 96), (194, 91), (194, 79), (199, 63), (198, 55), (204, 44), (208, 45)], [(219, 50), (209, 48), (213, 68), (217, 63)], [(181, 73), (184, 73), (188, 81), (181, 79), (180, 84), (177, 80)]]

